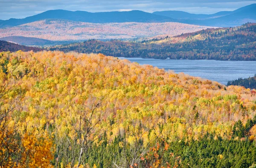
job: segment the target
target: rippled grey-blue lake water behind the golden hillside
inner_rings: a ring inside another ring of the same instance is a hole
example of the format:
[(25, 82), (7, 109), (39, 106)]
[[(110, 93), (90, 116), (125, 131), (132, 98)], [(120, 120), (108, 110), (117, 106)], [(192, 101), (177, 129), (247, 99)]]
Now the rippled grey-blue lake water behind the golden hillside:
[(165, 70), (173, 70), (175, 73), (183, 72), (225, 85), (229, 80), (236, 80), (239, 77), (253, 77), (256, 74), (256, 61), (157, 60), (123, 57), (119, 57), (119, 59), (127, 59), (140, 65), (153, 65)]

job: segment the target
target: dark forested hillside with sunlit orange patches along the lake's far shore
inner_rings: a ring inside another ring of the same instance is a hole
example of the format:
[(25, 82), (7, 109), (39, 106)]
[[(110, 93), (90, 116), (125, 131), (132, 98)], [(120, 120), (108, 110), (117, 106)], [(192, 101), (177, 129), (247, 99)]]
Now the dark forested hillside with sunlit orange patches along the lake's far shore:
[(51, 50), (102, 53), (114, 57), (156, 59), (256, 60), (256, 23), (212, 28), (177, 37), (128, 42), (88, 40)]

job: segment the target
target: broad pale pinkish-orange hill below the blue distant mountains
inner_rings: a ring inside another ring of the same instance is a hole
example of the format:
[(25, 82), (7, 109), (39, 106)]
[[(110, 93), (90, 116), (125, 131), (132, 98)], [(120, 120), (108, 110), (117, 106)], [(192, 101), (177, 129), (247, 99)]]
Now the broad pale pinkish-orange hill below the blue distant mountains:
[(35, 37), (52, 41), (88, 39), (131, 39), (162, 34), (176, 36), (209, 27), (183, 23), (85, 23), (47, 19), (11, 28), (0, 28), (0, 38), (9, 36)]

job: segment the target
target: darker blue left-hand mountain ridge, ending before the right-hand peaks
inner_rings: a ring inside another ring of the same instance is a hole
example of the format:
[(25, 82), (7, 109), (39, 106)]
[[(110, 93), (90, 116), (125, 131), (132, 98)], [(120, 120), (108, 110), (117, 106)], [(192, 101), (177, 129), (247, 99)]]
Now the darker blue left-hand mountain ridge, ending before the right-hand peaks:
[(50, 10), (24, 19), (9, 19), (0, 22), (0, 28), (18, 26), (44, 19), (64, 19), (88, 23), (173, 22), (175, 19), (144, 11), (111, 11), (91, 13), (87, 11)]

